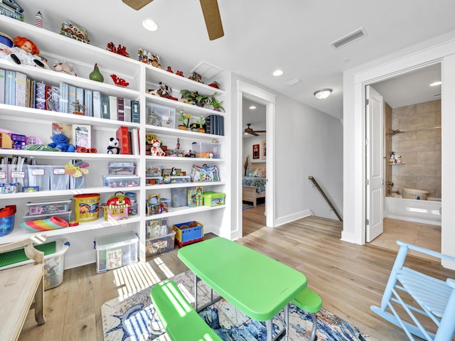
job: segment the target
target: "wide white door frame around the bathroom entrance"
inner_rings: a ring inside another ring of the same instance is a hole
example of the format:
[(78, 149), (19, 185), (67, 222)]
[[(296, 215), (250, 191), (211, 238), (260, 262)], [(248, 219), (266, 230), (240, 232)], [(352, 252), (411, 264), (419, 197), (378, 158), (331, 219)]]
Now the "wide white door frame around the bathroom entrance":
[[(442, 121), (442, 239), (441, 251), (455, 256), (455, 31), (414, 45), (380, 60), (373, 60), (343, 74), (343, 204), (342, 239), (365, 243), (365, 85), (398, 75), (405, 70), (441, 62)], [(444, 264), (455, 269), (455, 264)]]

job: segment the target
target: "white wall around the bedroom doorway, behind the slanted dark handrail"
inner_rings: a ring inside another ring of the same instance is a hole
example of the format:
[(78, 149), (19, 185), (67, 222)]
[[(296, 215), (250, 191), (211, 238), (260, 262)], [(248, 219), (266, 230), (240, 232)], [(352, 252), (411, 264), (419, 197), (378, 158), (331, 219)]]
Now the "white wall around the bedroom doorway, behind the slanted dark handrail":
[[(236, 91), (236, 80), (242, 80), (272, 93), (266, 87), (232, 74), (230, 90), (232, 94)], [(235, 96), (231, 98), (233, 101), (231, 107), (238, 107), (237, 98)], [(318, 180), (338, 212), (343, 212), (343, 126), (341, 121), (282, 94), (277, 94), (275, 110), (275, 136), (272, 139), (275, 141), (276, 157), (274, 226), (305, 217), (311, 212), (319, 217), (337, 220), (318, 190), (312, 187), (308, 176), (313, 175)], [(237, 141), (232, 141), (231, 144), (232, 183), (238, 183), (243, 174), (242, 165), (245, 161), (242, 145), (240, 145), (243, 130), (242, 117), (237, 115), (231, 119), (232, 129), (238, 131)], [(268, 145), (267, 151), (270, 150)], [(232, 195), (237, 195), (241, 202), (241, 191), (232, 190)], [(240, 205), (238, 207), (241, 209)], [(232, 222), (238, 221), (236, 219), (239, 217), (239, 212), (233, 212), (233, 215)]]

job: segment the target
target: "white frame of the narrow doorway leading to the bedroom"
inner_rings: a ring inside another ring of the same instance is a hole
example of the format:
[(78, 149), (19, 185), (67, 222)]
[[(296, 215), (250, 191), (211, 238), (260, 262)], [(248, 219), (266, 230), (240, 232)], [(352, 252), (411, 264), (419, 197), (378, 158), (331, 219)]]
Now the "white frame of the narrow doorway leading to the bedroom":
[[(267, 227), (274, 227), (275, 224), (275, 98), (276, 96), (270, 92), (250, 85), (247, 82), (242, 80), (237, 80), (237, 126), (235, 130), (237, 131), (237, 143), (239, 146), (243, 145), (242, 142), (242, 99), (243, 97), (254, 100), (260, 104), (264, 104), (266, 107), (266, 141), (267, 141), (267, 158), (266, 160), (266, 173), (267, 173), (267, 182), (265, 190), (265, 215), (266, 215), (266, 225)], [(237, 153), (237, 165), (242, 165), (242, 153)], [(237, 167), (237, 193), (240, 195), (240, 200), (238, 200), (238, 210), (240, 215), (237, 215), (237, 226), (240, 226), (240, 231), (242, 232), (242, 168)], [(241, 237), (241, 236), (240, 236)]]

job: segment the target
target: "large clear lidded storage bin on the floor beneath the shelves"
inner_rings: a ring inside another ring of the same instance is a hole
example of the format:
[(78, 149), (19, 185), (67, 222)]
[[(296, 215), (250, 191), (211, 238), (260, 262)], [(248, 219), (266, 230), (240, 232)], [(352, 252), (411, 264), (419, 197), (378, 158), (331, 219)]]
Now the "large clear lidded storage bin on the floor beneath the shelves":
[(97, 273), (136, 263), (138, 244), (132, 231), (95, 238)]

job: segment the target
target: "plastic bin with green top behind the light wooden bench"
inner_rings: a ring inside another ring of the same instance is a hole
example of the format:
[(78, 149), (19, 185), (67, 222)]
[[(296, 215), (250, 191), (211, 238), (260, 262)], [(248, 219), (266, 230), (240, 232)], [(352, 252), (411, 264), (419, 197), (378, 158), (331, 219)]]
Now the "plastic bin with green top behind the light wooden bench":
[[(54, 242), (35, 245), (35, 248), (44, 252), (44, 290), (60, 286), (65, 270), (65, 253), (70, 248), (70, 242), (67, 239), (58, 239)], [(32, 262), (27, 258), (23, 249), (0, 254), (0, 270)]]

